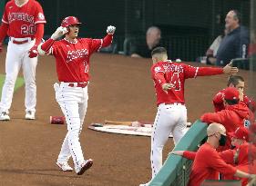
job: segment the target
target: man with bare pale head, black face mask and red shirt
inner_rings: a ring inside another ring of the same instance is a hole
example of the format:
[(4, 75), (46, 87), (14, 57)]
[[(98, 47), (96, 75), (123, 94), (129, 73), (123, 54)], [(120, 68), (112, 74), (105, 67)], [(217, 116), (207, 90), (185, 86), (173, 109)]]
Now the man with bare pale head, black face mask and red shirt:
[[(207, 128), (207, 136), (207, 142), (200, 146), (196, 154), (189, 175), (188, 186), (200, 186), (205, 180), (219, 180), (219, 172), (222, 174), (232, 174), (240, 178), (255, 178), (256, 175), (239, 171), (220, 158), (216, 149), (219, 146), (225, 145), (226, 142), (226, 129), (222, 124), (217, 122), (211, 123)], [(171, 153), (183, 155), (179, 152)]]

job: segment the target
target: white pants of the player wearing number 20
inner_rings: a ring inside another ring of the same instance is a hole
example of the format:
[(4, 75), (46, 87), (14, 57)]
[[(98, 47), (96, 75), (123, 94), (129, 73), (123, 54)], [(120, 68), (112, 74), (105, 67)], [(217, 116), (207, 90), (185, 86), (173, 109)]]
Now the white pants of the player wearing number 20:
[(25, 107), (26, 112), (36, 112), (36, 64), (37, 57), (28, 57), (29, 49), (35, 44), (32, 40), (26, 44), (13, 44), (9, 41), (5, 59), (5, 83), (2, 89), (0, 111), (9, 113), (14, 95), (15, 81), (20, 68), (23, 69), (25, 79)]

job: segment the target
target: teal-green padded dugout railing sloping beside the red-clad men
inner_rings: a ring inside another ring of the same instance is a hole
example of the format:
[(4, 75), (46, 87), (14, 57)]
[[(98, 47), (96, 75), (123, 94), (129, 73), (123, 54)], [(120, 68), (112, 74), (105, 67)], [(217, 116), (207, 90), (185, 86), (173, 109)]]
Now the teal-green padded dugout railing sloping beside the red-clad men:
[[(206, 129), (207, 125), (200, 120), (194, 122), (174, 151), (196, 151), (200, 142), (206, 137)], [(149, 186), (186, 186), (189, 181), (191, 164), (192, 161), (181, 156), (169, 155)]]

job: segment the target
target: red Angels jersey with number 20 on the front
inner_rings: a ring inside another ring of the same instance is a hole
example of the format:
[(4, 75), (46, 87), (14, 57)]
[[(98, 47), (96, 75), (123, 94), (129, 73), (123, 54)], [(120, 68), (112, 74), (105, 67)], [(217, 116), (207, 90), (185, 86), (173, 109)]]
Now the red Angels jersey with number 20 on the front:
[(34, 38), (36, 24), (45, 24), (46, 19), (42, 6), (35, 0), (28, 0), (21, 7), (11, 0), (5, 5), (2, 22), (9, 25), (7, 34), (10, 37)]

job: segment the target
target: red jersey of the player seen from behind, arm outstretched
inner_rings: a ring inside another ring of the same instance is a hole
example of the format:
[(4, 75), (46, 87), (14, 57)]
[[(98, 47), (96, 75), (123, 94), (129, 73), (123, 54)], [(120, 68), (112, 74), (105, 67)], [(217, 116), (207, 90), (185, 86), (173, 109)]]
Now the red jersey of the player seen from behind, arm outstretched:
[[(188, 64), (158, 62), (151, 67), (152, 79), (155, 83), (157, 103), (185, 103), (184, 83), (188, 78), (223, 73), (222, 68), (194, 67)], [(162, 90), (162, 84), (172, 83), (174, 88), (168, 93)]]

